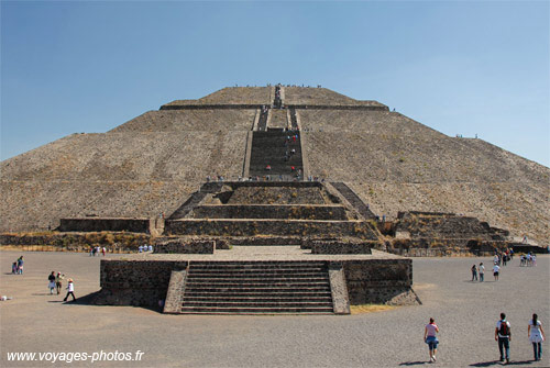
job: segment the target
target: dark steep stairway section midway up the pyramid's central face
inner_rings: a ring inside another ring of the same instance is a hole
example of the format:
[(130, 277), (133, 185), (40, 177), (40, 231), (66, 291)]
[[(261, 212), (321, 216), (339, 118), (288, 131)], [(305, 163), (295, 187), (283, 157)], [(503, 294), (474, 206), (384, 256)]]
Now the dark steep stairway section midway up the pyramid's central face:
[[(292, 153), (293, 149), (294, 154)], [(266, 170), (267, 166), (271, 167), (271, 170)], [(296, 177), (298, 170), (302, 169), (299, 132), (284, 132), (280, 130), (253, 132), (250, 176), (263, 177), (270, 175), (273, 179), (283, 176), (283, 179), (292, 180), (292, 178)]]

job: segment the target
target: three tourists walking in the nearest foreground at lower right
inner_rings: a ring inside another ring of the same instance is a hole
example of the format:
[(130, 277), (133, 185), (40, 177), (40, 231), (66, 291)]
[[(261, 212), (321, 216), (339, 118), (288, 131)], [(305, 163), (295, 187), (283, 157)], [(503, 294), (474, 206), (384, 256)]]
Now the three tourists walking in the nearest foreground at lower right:
[[(439, 339), (437, 334), (439, 333), (439, 327), (433, 319), (426, 325), (424, 330), (424, 341), (428, 344), (428, 349), (430, 353), (430, 363), (437, 361), (437, 349)], [(540, 360), (542, 357), (542, 342), (546, 339), (544, 330), (540, 323), (538, 315), (532, 314), (531, 320), (527, 326), (527, 336), (529, 342), (532, 344), (534, 360)], [(495, 327), (495, 341), (498, 343), (498, 352), (501, 353), (499, 361), (506, 359), (506, 364), (510, 363), (510, 341), (512, 341), (512, 326), (506, 320), (506, 314), (501, 313), (501, 319), (496, 323)]]

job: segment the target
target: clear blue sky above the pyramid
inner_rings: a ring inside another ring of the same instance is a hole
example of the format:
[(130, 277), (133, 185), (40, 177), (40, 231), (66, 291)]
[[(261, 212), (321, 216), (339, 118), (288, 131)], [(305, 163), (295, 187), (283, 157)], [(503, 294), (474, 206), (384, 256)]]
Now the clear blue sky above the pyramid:
[(322, 85), (550, 166), (549, 2), (2, 1), (2, 159), (227, 86)]

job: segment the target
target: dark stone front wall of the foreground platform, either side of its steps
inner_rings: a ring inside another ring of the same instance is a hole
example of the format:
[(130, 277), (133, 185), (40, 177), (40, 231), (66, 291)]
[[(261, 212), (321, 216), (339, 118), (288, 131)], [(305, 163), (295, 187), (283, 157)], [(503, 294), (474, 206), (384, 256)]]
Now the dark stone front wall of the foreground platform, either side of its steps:
[[(339, 260), (334, 264), (343, 267), (351, 304), (405, 305), (420, 302), (411, 289), (411, 259)], [(102, 259), (101, 291), (92, 302), (160, 309), (158, 305), (166, 299), (172, 271), (185, 270), (188, 265), (185, 260)], [(329, 268), (330, 265), (329, 261)]]

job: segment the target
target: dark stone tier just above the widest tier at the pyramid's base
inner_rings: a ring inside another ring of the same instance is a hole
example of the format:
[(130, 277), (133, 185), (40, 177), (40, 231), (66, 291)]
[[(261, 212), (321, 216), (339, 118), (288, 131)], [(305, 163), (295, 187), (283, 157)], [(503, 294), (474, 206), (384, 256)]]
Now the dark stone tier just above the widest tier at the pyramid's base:
[(342, 205), (207, 204), (193, 210), (194, 219), (346, 220)]

